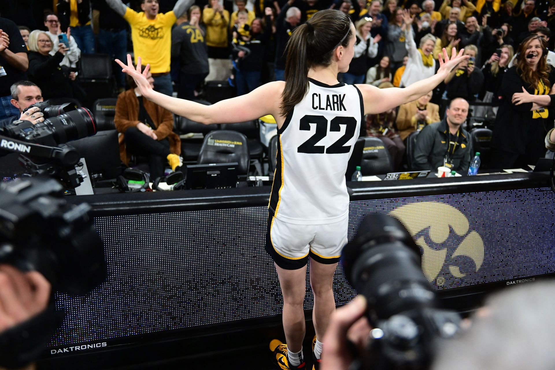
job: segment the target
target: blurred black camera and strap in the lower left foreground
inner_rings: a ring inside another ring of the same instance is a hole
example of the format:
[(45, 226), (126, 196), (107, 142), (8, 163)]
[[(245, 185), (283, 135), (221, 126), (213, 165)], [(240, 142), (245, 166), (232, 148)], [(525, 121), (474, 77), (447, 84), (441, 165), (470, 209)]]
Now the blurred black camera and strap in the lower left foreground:
[[(42, 177), (0, 184), (0, 263), (41, 272), (52, 291), (84, 295), (107, 276), (104, 249), (88, 215), (90, 206), (67, 204), (62, 192), (58, 181)], [(2, 331), (0, 367), (35, 361), (62, 319), (63, 312), (51, 303)]]

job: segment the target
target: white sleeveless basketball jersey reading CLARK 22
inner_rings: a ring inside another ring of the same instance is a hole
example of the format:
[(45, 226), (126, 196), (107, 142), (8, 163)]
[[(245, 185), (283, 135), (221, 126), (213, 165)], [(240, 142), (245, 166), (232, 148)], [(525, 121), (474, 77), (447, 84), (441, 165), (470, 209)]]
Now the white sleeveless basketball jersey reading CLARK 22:
[(269, 211), (297, 225), (331, 224), (349, 212), (345, 171), (364, 118), (354, 85), (310, 79), (309, 91), (278, 130)]

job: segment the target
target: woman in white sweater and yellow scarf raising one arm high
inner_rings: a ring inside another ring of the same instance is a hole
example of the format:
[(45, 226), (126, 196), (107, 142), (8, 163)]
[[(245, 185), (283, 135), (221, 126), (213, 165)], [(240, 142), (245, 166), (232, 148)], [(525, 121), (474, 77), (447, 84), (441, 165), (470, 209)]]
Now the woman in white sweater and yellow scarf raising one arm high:
[(403, 21), (407, 24), (406, 48), (408, 51), (408, 62), (405, 67), (401, 86), (407, 87), (417, 81), (432, 77), (436, 73), (436, 61), (433, 59), (433, 47), (436, 45), (436, 37), (428, 33), (420, 40), (420, 48), (416, 48), (412, 24), (414, 16), (408, 11), (403, 11)]

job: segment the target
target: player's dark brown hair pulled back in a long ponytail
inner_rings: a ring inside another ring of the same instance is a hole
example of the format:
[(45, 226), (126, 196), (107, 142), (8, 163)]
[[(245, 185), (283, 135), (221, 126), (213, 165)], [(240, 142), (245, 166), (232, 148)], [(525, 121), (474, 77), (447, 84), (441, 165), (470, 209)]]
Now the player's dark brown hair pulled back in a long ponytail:
[(295, 28), (285, 47), (285, 89), (281, 94), (281, 115), (286, 116), (306, 95), (312, 65), (326, 67), (334, 50), (346, 47), (351, 37), (351, 19), (335, 9), (319, 11), (309, 22)]

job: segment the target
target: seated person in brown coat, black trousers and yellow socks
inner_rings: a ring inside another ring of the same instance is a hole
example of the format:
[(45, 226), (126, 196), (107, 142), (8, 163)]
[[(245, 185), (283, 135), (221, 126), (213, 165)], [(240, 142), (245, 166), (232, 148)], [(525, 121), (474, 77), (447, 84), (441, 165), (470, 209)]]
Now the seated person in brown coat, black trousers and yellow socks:
[[(144, 70), (144, 69), (143, 69)], [(148, 74), (152, 85), (154, 79)], [(119, 155), (125, 165), (130, 155), (146, 156), (150, 178), (164, 175), (167, 164), (172, 170), (181, 164), (181, 140), (173, 132), (173, 115), (160, 105), (143, 99), (137, 85), (127, 76), (129, 90), (119, 94), (114, 124), (119, 133)]]

